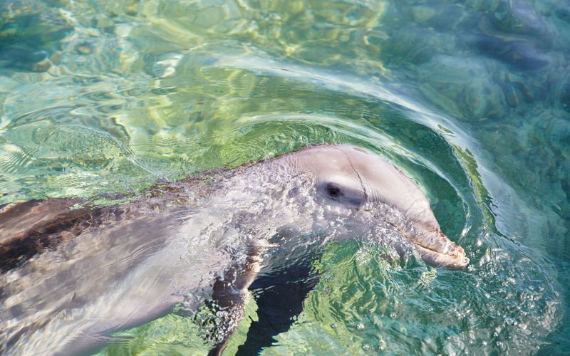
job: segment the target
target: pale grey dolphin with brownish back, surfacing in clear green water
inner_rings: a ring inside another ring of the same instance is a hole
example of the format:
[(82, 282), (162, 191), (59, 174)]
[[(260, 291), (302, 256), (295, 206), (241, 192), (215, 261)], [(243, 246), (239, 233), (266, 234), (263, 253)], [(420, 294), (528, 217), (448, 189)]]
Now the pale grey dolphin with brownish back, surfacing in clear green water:
[(96, 352), (112, 333), (204, 300), (226, 315), (210, 342), (219, 355), (269, 246), (300, 236), (384, 244), (432, 266), (469, 262), (413, 181), (356, 147), (156, 184), (127, 204), (83, 203), (0, 207), (2, 355)]

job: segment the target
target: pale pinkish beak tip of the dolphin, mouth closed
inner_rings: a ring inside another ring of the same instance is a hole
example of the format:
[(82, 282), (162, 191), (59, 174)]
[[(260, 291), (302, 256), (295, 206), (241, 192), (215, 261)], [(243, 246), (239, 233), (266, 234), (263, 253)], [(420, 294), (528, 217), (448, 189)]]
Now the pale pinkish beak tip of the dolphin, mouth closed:
[(447, 238), (440, 230), (427, 229), (410, 238), (421, 258), (436, 267), (462, 269), (469, 263), (463, 248)]

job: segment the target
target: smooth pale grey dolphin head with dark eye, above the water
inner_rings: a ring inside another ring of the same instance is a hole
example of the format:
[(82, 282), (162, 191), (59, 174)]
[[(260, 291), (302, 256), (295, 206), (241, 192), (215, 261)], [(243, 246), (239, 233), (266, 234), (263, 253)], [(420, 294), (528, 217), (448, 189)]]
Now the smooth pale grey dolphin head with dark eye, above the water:
[[(420, 188), (377, 155), (357, 147), (323, 145), (285, 158), (296, 172), (309, 174), (318, 204), (338, 214), (368, 213), (384, 219), (433, 266), (464, 268), (469, 263), (463, 248), (442, 233)], [(380, 205), (400, 214), (383, 214), (385, 209), (375, 209)]]

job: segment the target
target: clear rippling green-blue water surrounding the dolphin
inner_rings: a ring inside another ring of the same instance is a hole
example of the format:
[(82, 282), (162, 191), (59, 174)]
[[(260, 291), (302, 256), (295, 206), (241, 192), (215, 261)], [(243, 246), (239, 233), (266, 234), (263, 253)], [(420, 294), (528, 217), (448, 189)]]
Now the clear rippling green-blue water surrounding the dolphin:
[[(423, 187), (472, 263), (390, 265), (331, 244), (266, 354), (568, 350), (567, 4), (8, 1), (0, 14), (0, 203), (360, 145)], [(123, 335), (103, 352), (206, 350), (176, 315)]]

